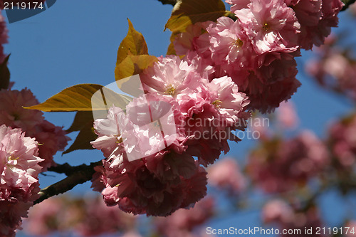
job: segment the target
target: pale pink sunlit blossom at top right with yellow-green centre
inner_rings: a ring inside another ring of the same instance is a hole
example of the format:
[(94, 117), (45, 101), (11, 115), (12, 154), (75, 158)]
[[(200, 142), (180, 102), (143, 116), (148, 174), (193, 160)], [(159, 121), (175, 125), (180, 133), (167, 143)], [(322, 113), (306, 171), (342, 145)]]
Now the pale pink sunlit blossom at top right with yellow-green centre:
[(300, 23), (283, 0), (251, 0), (248, 8), (234, 11), (258, 54), (293, 52)]

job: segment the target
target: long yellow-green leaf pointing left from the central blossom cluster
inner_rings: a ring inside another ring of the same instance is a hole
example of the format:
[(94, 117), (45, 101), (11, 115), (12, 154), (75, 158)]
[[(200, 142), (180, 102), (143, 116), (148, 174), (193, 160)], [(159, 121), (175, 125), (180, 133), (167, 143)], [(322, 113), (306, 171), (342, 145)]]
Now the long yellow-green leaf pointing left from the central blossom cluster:
[(108, 110), (112, 104), (125, 108), (128, 102), (130, 97), (119, 95), (103, 85), (79, 84), (62, 90), (39, 105), (25, 108), (44, 112), (92, 111)]

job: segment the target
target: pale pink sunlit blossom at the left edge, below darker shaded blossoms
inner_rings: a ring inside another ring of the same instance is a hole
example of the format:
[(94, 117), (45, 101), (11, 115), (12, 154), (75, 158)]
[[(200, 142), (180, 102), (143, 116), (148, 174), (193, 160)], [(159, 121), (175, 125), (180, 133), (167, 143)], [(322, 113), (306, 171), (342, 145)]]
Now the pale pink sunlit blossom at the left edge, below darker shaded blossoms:
[(38, 142), (25, 137), (20, 129), (0, 127), (1, 199), (7, 201), (34, 201), (39, 191), (38, 174), (43, 159), (37, 157)]

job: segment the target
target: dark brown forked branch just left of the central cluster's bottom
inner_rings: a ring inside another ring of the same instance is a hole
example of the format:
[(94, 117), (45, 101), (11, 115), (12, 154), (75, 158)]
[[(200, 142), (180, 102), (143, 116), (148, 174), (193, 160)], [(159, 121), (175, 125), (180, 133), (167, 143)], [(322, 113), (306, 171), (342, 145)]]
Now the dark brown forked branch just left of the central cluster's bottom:
[(103, 165), (103, 162), (93, 162), (90, 163), (90, 165), (81, 164), (78, 167), (71, 167), (67, 163), (60, 164), (57, 167), (51, 167), (51, 171), (54, 171), (53, 169), (57, 169), (58, 173), (67, 174), (68, 177), (58, 181), (56, 184), (52, 184), (44, 189), (41, 189), (38, 193), (40, 194), (40, 197), (34, 201), (33, 204), (39, 204), (41, 201), (46, 200), (51, 196), (63, 194), (66, 191), (73, 189), (77, 184), (83, 184), (86, 181), (89, 181), (95, 173), (94, 167), (98, 165)]

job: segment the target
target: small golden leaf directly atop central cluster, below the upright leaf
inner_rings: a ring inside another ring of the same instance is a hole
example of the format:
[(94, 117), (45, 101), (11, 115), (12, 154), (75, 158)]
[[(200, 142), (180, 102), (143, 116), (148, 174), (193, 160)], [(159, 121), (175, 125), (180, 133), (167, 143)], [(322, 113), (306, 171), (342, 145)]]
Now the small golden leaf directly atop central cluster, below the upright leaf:
[(142, 72), (142, 70), (152, 66), (157, 62), (155, 56), (140, 55), (140, 56), (127, 56), (122, 62), (115, 68), (115, 79), (121, 80), (128, 78), (132, 75), (136, 75)]

